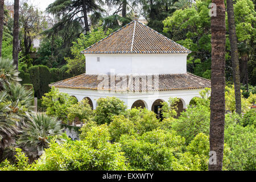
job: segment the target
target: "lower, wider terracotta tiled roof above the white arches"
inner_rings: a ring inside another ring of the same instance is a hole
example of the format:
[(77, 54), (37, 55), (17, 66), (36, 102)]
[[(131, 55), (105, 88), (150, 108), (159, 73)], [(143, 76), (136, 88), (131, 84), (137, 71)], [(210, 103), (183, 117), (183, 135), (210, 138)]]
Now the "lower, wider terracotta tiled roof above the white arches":
[[(116, 75), (111, 78), (110, 75), (105, 75), (105, 78), (99, 77), (99, 79), (98, 76), (99, 75), (82, 74), (55, 82), (49, 86), (72, 89), (113, 90), (117, 92), (127, 90), (129, 90), (129, 92), (141, 92), (210, 88), (210, 80), (192, 75), (188, 72), (173, 75), (126, 75), (123, 77), (124, 80), (120, 79)], [(104, 82), (102, 82), (104, 79), (106, 81), (105, 85), (103, 84)], [(155, 82), (155, 80), (158, 80), (158, 82)], [(121, 84), (124, 87), (119, 86)]]

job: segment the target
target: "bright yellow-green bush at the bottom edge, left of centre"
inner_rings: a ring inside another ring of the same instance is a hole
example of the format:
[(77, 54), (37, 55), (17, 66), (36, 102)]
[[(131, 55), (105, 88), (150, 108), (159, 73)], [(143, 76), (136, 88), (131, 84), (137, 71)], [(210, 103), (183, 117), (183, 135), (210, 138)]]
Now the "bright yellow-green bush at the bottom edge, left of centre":
[(40, 171), (85, 171), (129, 169), (118, 144), (101, 148), (89, 146), (86, 140), (57, 144), (51, 142), (33, 168)]

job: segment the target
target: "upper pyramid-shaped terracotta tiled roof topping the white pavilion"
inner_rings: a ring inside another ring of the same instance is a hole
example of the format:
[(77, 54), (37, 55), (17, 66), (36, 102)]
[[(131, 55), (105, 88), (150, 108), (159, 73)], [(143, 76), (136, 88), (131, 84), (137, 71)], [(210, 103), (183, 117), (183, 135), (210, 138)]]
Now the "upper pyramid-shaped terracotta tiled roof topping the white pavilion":
[(145, 24), (133, 20), (82, 53), (190, 53)]

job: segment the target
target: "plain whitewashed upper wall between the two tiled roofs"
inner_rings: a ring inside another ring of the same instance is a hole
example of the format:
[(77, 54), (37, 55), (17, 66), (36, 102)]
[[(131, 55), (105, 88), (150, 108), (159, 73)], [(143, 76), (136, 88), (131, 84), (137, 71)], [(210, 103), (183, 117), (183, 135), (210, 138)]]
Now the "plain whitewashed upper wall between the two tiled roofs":
[[(177, 74), (187, 72), (187, 54), (85, 54), (86, 74)], [(100, 57), (100, 61), (97, 61)]]

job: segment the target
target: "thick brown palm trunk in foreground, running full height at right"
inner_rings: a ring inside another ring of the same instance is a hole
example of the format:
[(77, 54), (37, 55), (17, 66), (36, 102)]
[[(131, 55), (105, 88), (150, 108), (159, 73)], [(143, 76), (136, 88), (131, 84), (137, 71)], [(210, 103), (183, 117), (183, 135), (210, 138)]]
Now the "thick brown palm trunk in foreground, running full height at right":
[[(212, 32), (212, 92), (210, 99), (210, 152), (209, 171), (222, 169), (225, 125), (225, 4), (224, 0), (212, 0), (216, 4), (216, 16), (211, 17)], [(212, 153), (213, 152), (213, 153)], [(212, 157), (211, 157), (212, 158)], [(211, 159), (210, 158), (210, 159)]]

